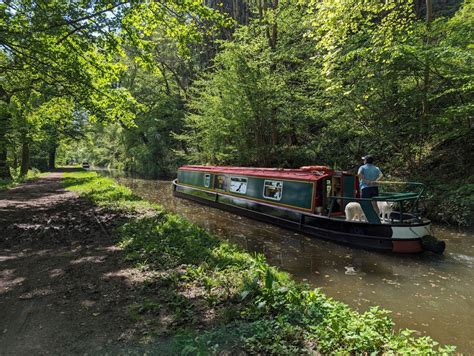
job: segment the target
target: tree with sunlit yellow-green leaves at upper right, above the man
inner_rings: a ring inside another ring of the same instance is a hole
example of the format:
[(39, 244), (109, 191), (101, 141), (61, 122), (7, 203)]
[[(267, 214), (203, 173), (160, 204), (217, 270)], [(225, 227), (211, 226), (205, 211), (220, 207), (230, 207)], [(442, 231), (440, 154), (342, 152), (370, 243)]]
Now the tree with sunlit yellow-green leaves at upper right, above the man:
[[(430, 19), (427, 27), (409, 1), (326, 0), (309, 6), (326, 92), (330, 104), (340, 108), (337, 121), (354, 140), (362, 139), (363, 151), (387, 157), (394, 167), (413, 169), (429, 154), (431, 137), (444, 131), (437, 122), (446, 118), (445, 109), (466, 108), (454, 94), (462, 86), (450, 79), (458, 68), (447, 65), (463, 57), (447, 51), (442, 31), (449, 20)], [(443, 91), (453, 96), (441, 98)]]

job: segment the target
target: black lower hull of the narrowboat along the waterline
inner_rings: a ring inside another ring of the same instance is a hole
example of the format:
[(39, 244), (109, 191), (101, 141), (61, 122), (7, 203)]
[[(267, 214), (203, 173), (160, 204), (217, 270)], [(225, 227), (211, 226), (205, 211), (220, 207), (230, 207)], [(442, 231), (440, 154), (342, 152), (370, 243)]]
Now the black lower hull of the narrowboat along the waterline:
[(430, 221), (426, 219), (409, 226), (345, 221), (316, 215), (300, 206), (275, 205), (273, 202), (236, 196), (226, 191), (192, 186), (181, 183), (179, 178), (173, 182), (173, 190), (177, 197), (353, 247), (397, 253), (418, 253), (423, 250), (442, 253), (445, 248), (444, 242), (431, 237)]

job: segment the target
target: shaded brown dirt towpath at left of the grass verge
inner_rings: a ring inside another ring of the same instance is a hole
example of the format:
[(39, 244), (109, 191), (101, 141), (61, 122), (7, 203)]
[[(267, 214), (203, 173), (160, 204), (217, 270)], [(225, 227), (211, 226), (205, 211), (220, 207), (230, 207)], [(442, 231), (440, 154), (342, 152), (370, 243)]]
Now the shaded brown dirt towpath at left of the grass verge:
[(122, 353), (136, 333), (140, 276), (108, 233), (119, 217), (60, 179), (0, 193), (0, 355)]

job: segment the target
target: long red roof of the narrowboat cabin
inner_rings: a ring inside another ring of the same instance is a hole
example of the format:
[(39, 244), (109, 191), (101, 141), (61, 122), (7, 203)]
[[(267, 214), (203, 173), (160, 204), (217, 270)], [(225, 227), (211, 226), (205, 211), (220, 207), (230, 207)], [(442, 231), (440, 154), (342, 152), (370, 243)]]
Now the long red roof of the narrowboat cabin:
[(331, 176), (334, 171), (326, 166), (305, 166), (298, 169), (283, 168), (254, 168), (254, 167), (229, 167), (229, 166), (198, 166), (187, 165), (179, 168), (185, 171), (200, 171), (208, 173), (228, 173), (244, 176), (263, 178), (281, 178), (317, 181)]

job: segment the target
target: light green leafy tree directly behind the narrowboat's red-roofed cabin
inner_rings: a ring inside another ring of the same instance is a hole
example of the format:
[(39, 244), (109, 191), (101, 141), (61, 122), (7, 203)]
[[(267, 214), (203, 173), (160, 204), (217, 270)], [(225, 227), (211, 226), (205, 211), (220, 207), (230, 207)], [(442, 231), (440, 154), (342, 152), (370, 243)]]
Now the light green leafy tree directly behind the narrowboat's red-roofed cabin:
[(313, 135), (324, 124), (306, 17), (294, 1), (267, 16), (237, 29), (195, 82), (188, 130), (178, 136), (191, 162), (290, 166), (314, 158)]

